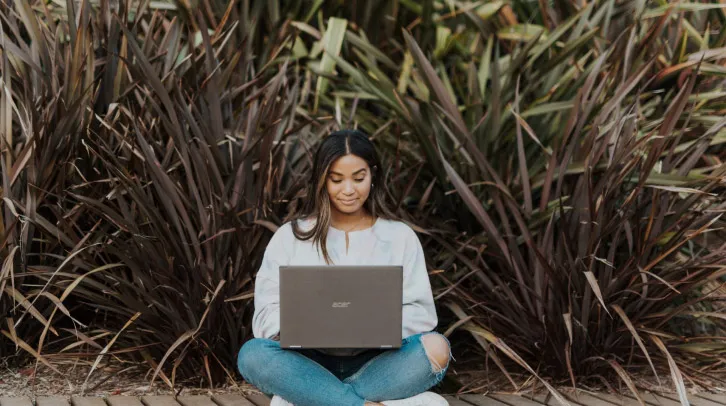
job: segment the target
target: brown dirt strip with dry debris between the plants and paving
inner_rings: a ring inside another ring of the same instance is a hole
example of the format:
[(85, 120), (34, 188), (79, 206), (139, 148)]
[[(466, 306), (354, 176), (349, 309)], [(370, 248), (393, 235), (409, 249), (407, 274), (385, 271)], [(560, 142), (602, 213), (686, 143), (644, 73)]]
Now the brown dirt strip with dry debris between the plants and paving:
[[(512, 374), (512, 378), (519, 385), (516, 390), (503, 374), (497, 371), (484, 373), (481, 365), (464, 361), (459, 365), (450, 365), (444, 381), (432, 389), (442, 394), (458, 393), (488, 393), (508, 392), (532, 394), (541, 392), (543, 385), (531, 376)], [(174, 389), (157, 376), (153, 386), (149, 380), (153, 374), (146, 364), (129, 364), (111, 360), (100, 365), (89, 375), (91, 365), (84, 362), (54, 363), (61, 373), (52, 371), (43, 364), (31, 363), (22, 368), (11, 368), (0, 360), (0, 395), (8, 397), (27, 396), (35, 399), (38, 396), (145, 396), (145, 395), (213, 395), (220, 393), (259, 393), (252, 385), (243, 382), (238, 376), (235, 380), (228, 380), (225, 385), (210, 389), (207, 379), (199, 377), (193, 380), (176, 381)], [(726, 394), (726, 376), (714, 377), (709, 382), (700, 382), (709, 388), (709, 392)], [(658, 393), (673, 393), (670, 376), (666, 373), (661, 376), (661, 385), (652, 376), (633, 376), (635, 385), (646, 391)], [(84, 386), (85, 382), (85, 386)], [(567, 394), (566, 382), (555, 384), (563, 393)], [(592, 387), (580, 388), (586, 391), (615, 391), (628, 393), (623, 384), (614, 388)], [(704, 387), (690, 385), (689, 393), (703, 392)]]

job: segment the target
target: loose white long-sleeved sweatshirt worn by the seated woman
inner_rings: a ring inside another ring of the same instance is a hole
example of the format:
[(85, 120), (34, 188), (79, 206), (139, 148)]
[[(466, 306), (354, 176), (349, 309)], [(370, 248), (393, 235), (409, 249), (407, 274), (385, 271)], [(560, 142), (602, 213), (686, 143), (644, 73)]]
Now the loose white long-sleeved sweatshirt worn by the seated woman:
[[(300, 222), (302, 229), (312, 227), (315, 220)], [(330, 227), (327, 248), (333, 265), (402, 265), (403, 303), (401, 339), (432, 331), (438, 324), (423, 248), (416, 233), (400, 221), (377, 219), (373, 227), (348, 233), (350, 245), (345, 248), (345, 232)], [(252, 334), (256, 338), (272, 338), (280, 331), (280, 266), (320, 265), (325, 259), (312, 241), (295, 238), (292, 224), (283, 224), (272, 236), (262, 265), (255, 279), (255, 312)], [(332, 355), (355, 355), (362, 349), (319, 349)]]

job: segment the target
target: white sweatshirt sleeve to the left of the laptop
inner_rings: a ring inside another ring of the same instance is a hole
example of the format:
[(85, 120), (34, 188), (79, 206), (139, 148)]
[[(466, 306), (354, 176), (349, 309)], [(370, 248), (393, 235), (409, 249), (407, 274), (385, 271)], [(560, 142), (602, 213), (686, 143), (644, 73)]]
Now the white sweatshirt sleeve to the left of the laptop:
[(272, 339), (280, 332), (280, 265), (289, 263), (288, 228), (285, 224), (272, 235), (255, 277), (255, 312), (252, 316), (255, 338)]

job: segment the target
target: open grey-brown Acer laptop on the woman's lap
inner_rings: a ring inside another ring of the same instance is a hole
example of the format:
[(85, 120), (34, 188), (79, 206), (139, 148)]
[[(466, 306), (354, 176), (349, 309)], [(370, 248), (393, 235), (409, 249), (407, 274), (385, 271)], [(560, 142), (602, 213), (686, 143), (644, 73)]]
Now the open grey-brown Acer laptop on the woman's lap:
[(280, 266), (281, 348), (400, 348), (402, 266)]

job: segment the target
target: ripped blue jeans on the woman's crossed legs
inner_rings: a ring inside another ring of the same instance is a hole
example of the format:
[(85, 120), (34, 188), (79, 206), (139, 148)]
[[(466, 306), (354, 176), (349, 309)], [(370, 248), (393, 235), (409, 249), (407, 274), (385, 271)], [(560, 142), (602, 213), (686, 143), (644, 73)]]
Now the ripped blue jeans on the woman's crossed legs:
[(295, 406), (362, 406), (366, 401), (404, 399), (441, 382), (453, 358), (449, 352), (443, 368), (432, 363), (421, 341), (426, 334), (439, 333), (414, 334), (402, 340), (401, 348), (354, 356), (282, 349), (277, 341), (253, 338), (240, 349), (237, 368), (263, 393)]

